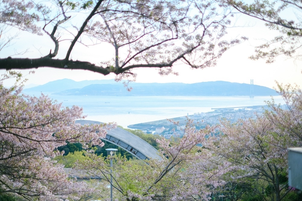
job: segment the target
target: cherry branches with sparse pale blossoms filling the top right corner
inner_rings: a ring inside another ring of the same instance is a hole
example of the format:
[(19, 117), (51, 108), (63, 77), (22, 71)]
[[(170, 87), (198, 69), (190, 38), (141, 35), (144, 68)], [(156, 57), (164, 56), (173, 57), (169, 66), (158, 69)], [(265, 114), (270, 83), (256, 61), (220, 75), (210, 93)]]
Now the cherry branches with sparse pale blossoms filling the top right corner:
[[(268, 29), (277, 30), (270, 41), (256, 47), (251, 59), (265, 58), (267, 63), (279, 55), (299, 58), (301, 54), (301, 1), (297, 0), (227, 0), (237, 11), (265, 22)], [(277, 33), (278, 33), (277, 32)]]

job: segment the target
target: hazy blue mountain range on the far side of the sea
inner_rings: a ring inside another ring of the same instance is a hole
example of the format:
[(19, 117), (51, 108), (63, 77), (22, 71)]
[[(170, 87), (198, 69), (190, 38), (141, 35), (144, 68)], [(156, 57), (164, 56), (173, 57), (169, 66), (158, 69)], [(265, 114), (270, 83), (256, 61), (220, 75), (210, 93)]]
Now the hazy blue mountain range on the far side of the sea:
[(70, 79), (56, 80), (23, 90), (26, 94), (54, 94), (62, 96), (275, 96), (275, 90), (265, 86), (225, 81), (185, 83), (130, 83), (128, 92), (122, 83), (114, 80)]

